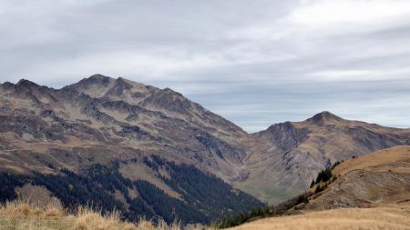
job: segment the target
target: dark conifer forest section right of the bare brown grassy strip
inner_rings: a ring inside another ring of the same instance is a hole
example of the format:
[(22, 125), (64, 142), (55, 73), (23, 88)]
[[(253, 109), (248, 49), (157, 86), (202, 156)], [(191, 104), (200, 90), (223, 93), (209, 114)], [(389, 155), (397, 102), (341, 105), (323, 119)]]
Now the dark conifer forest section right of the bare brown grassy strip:
[[(220, 216), (250, 210), (252, 206), (265, 206), (255, 197), (241, 190), (234, 189), (215, 175), (200, 171), (193, 165), (177, 165), (167, 162), (158, 155), (145, 159), (146, 165), (153, 170), (162, 168), (169, 172), (169, 177), (158, 176), (174, 191), (182, 195), (182, 199), (193, 210), (201, 210), (204, 221), (219, 221)], [(158, 171), (157, 171), (158, 172)]]

